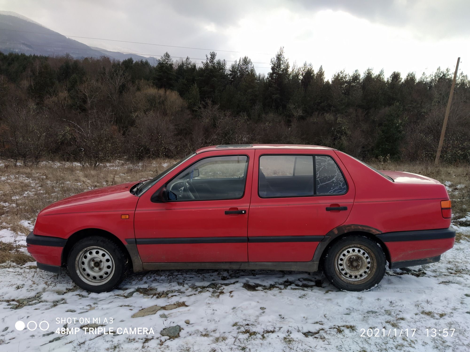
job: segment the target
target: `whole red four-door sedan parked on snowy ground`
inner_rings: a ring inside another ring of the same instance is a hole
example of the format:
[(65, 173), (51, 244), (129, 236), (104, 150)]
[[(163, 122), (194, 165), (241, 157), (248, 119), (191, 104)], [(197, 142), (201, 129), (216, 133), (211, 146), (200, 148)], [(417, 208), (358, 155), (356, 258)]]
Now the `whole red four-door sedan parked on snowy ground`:
[(454, 245), (450, 200), (429, 177), (377, 171), (315, 145), (201, 148), (139, 183), (44, 208), (27, 237), (40, 269), (92, 292), (129, 271), (317, 271), (364, 291), (389, 268), (437, 262)]

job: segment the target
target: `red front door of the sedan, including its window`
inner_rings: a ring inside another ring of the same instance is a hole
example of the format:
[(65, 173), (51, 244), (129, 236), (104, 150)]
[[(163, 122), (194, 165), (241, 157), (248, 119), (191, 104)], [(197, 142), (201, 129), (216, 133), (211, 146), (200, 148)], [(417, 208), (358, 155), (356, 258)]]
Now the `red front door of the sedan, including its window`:
[(145, 193), (134, 220), (142, 262), (248, 261), (253, 159), (254, 150), (196, 154), (156, 185), (166, 203)]

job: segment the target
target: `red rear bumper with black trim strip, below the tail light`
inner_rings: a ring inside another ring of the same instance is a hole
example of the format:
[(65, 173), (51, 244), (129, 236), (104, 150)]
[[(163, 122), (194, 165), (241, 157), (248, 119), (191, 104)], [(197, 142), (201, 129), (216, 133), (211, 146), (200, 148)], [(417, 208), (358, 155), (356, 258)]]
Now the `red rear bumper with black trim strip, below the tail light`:
[(404, 268), (435, 263), (454, 246), (455, 230), (387, 232), (377, 235), (390, 254), (389, 268)]

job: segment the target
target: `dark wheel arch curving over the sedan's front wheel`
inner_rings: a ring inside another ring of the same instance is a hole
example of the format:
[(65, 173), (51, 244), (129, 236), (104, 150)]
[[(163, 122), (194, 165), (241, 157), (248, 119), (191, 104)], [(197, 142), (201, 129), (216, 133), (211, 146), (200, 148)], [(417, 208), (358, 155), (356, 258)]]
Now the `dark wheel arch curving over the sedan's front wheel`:
[[(139, 263), (138, 263), (140, 261), (140, 257), (137, 253), (137, 248), (134, 249), (133, 245), (125, 245), (116, 235), (112, 234), (109, 231), (97, 229), (97, 228), (87, 228), (87, 229), (78, 230), (74, 232), (69, 238), (67, 238), (67, 242), (65, 243), (65, 246), (63, 247), (63, 251), (62, 251), (62, 261), (61, 261), (62, 266), (66, 265), (67, 257), (73, 245), (77, 243), (78, 240), (82, 238), (90, 237), (90, 236), (101, 236), (104, 238), (108, 238), (114, 243), (116, 243), (116, 245), (118, 245), (121, 248), (121, 250), (123, 250), (123, 252), (127, 254), (127, 257), (129, 258), (129, 262), (131, 263), (130, 265), (131, 269), (133, 269), (134, 272), (136, 271), (136, 269), (137, 271), (140, 271)], [(135, 255), (137, 255), (138, 257), (137, 262), (136, 262)]]

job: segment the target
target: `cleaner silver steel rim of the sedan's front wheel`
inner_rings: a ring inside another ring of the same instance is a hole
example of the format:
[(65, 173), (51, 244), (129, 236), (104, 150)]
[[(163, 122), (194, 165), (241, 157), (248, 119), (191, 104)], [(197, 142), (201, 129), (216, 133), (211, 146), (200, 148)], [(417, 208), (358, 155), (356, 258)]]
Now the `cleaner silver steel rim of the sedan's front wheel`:
[(94, 286), (110, 281), (114, 268), (114, 259), (111, 254), (98, 246), (82, 249), (75, 259), (75, 270), (80, 279)]

